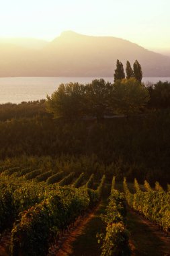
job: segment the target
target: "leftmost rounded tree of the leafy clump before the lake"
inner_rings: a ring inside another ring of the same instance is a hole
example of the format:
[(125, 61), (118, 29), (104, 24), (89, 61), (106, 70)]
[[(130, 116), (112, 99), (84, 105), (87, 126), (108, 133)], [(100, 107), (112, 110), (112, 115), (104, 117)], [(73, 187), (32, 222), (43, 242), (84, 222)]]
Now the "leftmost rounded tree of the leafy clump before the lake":
[(51, 97), (47, 95), (46, 109), (54, 115), (54, 119), (83, 117), (84, 108), (85, 86), (79, 83), (60, 84)]

